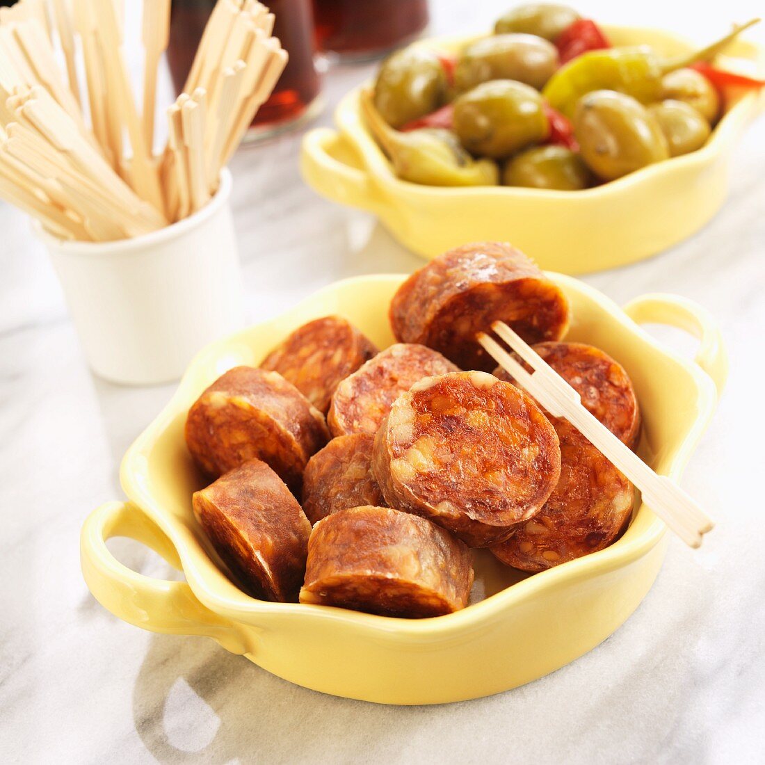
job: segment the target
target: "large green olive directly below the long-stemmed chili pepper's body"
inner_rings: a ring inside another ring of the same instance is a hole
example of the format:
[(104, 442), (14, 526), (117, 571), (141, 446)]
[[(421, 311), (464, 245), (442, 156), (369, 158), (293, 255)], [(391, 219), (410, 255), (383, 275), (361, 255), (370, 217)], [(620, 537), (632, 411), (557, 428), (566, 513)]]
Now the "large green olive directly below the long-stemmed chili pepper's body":
[(669, 158), (656, 118), (632, 96), (615, 90), (593, 90), (579, 99), (574, 135), (582, 159), (605, 181)]

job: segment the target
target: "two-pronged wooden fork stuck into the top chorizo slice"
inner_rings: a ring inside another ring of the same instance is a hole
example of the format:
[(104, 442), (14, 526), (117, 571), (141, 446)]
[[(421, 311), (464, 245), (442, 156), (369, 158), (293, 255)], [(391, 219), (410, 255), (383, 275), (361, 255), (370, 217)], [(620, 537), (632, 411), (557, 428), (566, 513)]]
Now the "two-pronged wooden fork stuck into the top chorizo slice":
[(568, 385), (544, 360), (510, 327), (501, 321), (492, 329), (535, 370), (529, 374), (496, 340), (481, 332), (478, 342), (500, 363), (531, 396), (553, 417), (564, 417), (588, 438), (607, 459), (631, 480), (643, 493), (643, 500), (685, 544), (698, 547), (702, 535), (711, 531), (713, 523), (700, 506), (677, 484), (659, 476), (626, 444), (611, 433), (581, 405), (579, 394)]

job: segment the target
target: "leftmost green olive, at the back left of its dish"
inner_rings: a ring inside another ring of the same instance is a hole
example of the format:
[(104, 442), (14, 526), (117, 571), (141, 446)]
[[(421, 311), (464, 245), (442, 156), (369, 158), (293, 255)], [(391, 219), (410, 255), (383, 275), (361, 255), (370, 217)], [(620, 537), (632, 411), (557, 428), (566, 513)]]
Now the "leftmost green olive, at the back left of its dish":
[(422, 47), (408, 47), (382, 62), (375, 106), (382, 119), (400, 128), (443, 106), (446, 90), (447, 77), (438, 56)]

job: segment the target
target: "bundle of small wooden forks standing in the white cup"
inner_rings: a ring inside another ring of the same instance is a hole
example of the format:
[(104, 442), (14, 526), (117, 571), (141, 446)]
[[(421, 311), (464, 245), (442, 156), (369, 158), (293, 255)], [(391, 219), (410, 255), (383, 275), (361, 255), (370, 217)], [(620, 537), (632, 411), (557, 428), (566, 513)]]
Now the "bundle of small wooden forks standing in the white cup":
[(85, 241), (139, 236), (200, 210), (287, 63), (273, 24), (259, 2), (218, 0), (184, 93), (167, 110), (167, 145), (155, 154), (170, 0), (144, 3), (142, 112), (125, 63), (121, 0), (2, 8), (0, 197), (54, 236)]

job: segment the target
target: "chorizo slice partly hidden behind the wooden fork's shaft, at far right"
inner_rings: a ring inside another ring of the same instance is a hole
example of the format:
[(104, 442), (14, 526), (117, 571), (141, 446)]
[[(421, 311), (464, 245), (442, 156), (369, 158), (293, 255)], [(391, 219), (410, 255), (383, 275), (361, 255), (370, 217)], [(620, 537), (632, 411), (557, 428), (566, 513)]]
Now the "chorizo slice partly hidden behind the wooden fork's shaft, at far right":
[[(549, 342), (532, 347), (578, 392), (586, 409), (630, 449), (636, 448), (640, 441), (640, 407), (632, 380), (620, 363), (585, 343)], [(532, 371), (518, 356), (516, 359)], [(494, 375), (518, 385), (501, 366)]]

